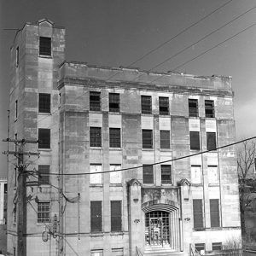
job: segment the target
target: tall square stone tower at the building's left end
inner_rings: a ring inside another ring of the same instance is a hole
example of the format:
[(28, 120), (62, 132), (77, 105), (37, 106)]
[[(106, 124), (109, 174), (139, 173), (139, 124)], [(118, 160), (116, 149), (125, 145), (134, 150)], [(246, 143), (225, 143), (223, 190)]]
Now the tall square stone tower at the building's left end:
[[(12, 255), (46, 255), (50, 250), (42, 244), (42, 230), (48, 229), (44, 223), (59, 212), (59, 206), (56, 189), (45, 183), (58, 187), (58, 180), (42, 176), (38, 181), (38, 172), (55, 172), (59, 166), (57, 82), (64, 49), (65, 29), (45, 19), (26, 23), (11, 48), (9, 137), (19, 142), (10, 143), (10, 150), (17, 154), (10, 156), (8, 174), (8, 252)], [(31, 172), (25, 177), (21, 170)], [(20, 196), (22, 175), (26, 188)]]

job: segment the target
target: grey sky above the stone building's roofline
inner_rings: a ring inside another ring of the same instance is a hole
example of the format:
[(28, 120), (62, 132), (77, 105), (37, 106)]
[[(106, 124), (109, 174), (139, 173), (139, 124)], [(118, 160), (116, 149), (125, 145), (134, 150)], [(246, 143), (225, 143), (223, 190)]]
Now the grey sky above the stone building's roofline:
[[(227, 4), (218, 9), (224, 3)], [(214, 9), (218, 11), (137, 61)], [(9, 49), (15, 38), (15, 31), (6, 29), (18, 29), (26, 22), (43, 18), (66, 27), (67, 61), (108, 67), (128, 67), (137, 61), (133, 67), (143, 70), (231, 76), (236, 138), (256, 135), (256, 26), (252, 26), (256, 23), (255, 0), (0, 0), (1, 152), (7, 149), (2, 139), (7, 137)], [(214, 32), (221, 26), (224, 27)], [(252, 27), (247, 29), (248, 26)], [(201, 56), (195, 58), (198, 55)], [(0, 155), (0, 176), (6, 175), (6, 168), (6, 156)]]

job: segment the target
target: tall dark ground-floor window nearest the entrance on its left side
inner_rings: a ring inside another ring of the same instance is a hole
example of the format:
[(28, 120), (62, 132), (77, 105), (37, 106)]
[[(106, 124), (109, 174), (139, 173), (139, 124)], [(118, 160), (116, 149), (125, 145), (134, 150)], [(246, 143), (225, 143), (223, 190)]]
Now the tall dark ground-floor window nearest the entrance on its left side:
[(122, 201), (110, 201), (111, 231), (122, 230)]

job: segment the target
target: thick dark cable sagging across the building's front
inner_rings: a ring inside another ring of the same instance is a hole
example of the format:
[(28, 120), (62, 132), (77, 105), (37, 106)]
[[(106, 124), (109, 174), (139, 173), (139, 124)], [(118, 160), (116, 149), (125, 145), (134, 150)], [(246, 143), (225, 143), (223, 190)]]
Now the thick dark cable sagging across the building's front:
[[(195, 155), (199, 155), (199, 154), (205, 154), (205, 153), (208, 153), (208, 152), (212, 152), (212, 151), (216, 151), (218, 149), (221, 149), (221, 148), (228, 148), (230, 146), (234, 146), (236, 144), (239, 144), (239, 143), (244, 143), (246, 141), (249, 141), (249, 140), (253, 140), (255, 139), (255, 137), (248, 137), (246, 139), (243, 139), (241, 141), (238, 141), (236, 143), (230, 143), (230, 144), (226, 144), (224, 146), (221, 146), (221, 147), (218, 147), (218, 148), (213, 148), (211, 150), (205, 150), (205, 151), (201, 151), (201, 152), (198, 152), (198, 153), (195, 153), (195, 154), (187, 154), (187, 155), (184, 155), (184, 156), (181, 156), (181, 157), (177, 157), (175, 159), (172, 159), (172, 160), (164, 160), (164, 161), (160, 161), (160, 162), (155, 162), (154, 164), (148, 164), (148, 165), (143, 165), (143, 166), (156, 166), (156, 165), (160, 165), (160, 164), (164, 164), (164, 163), (167, 163), (167, 162), (173, 162), (173, 161), (176, 161), (176, 160), (182, 160), (182, 159), (185, 159), (185, 158), (189, 158), (189, 157), (192, 157), (192, 156), (195, 156)], [(59, 176), (73, 176), (73, 175), (77, 175), (77, 176), (81, 176), (81, 175), (93, 175), (93, 174), (100, 174), (100, 173), (108, 173), (108, 172), (125, 172), (125, 171), (129, 171), (129, 170), (133, 170), (133, 169), (137, 169), (137, 168), (143, 168), (143, 166), (134, 166), (134, 167), (128, 167), (128, 168), (123, 168), (123, 169), (119, 169), (119, 170), (112, 170), (112, 171), (106, 171), (106, 172), (79, 172), (79, 173), (47, 173), (47, 174), (44, 174), (42, 173), (41, 175), (42, 176), (49, 176), (49, 175), (59, 175)]]

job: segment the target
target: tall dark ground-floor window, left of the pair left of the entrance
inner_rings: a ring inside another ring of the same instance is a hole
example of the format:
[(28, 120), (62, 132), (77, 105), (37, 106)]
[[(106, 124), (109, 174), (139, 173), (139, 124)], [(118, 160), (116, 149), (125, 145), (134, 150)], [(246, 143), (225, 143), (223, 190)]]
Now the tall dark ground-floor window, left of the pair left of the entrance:
[(90, 231), (102, 231), (102, 201), (90, 201)]

